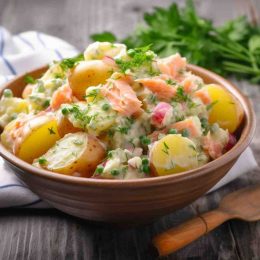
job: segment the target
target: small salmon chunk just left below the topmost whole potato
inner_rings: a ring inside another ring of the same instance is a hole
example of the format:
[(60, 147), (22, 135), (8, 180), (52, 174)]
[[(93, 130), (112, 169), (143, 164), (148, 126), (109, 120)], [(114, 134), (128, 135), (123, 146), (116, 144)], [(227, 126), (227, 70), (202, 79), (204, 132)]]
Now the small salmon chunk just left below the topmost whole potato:
[(57, 110), (62, 104), (72, 102), (72, 90), (69, 85), (58, 88), (52, 95), (51, 108)]

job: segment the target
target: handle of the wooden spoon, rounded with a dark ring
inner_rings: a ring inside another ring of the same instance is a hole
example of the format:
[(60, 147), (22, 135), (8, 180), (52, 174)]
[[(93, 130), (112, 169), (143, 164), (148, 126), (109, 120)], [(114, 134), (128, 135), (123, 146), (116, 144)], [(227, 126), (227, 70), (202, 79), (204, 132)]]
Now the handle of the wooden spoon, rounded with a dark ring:
[(178, 227), (171, 228), (153, 239), (160, 256), (166, 256), (188, 245), (230, 218), (229, 215), (213, 210), (193, 218)]

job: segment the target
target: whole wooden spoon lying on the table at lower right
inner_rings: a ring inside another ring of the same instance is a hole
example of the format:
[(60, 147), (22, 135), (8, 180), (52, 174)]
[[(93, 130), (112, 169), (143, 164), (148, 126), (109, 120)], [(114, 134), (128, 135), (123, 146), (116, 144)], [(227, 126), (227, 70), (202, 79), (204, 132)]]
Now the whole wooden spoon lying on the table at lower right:
[(260, 184), (230, 193), (222, 199), (219, 208), (157, 235), (153, 245), (159, 256), (166, 256), (234, 218), (260, 220)]

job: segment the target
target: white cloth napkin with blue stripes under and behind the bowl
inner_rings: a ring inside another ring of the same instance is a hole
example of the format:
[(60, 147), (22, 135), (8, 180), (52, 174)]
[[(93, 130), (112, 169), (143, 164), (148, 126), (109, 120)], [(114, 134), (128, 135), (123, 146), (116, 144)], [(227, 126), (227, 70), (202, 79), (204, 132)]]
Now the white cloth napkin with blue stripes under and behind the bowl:
[[(0, 87), (15, 75), (46, 65), (52, 60), (75, 56), (77, 53), (75, 47), (56, 37), (35, 31), (12, 36), (0, 27)], [(253, 153), (248, 148), (210, 192), (256, 167)], [(21, 183), (0, 157), (0, 208), (48, 207), (50, 206), (46, 202)]]

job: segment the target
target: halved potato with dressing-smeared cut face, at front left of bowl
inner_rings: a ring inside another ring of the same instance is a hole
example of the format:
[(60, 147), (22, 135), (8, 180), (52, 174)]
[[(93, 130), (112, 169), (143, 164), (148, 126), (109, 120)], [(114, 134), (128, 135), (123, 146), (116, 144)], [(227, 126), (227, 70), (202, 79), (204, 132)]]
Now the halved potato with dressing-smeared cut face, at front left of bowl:
[(90, 177), (104, 159), (105, 149), (95, 137), (78, 132), (65, 135), (34, 165), (66, 175)]

